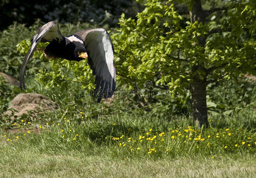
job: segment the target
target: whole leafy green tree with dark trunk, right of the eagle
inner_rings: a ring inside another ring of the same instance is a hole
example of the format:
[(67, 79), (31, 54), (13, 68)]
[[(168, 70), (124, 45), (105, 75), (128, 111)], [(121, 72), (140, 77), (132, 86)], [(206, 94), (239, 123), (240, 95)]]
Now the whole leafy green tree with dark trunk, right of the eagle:
[(148, 0), (135, 19), (122, 14), (112, 35), (119, 82), (151, 80), (173, 97), (187, 88), (195, 123), (208, 126), (207, 85), (256, 74), (256, 2), (218, 2)]

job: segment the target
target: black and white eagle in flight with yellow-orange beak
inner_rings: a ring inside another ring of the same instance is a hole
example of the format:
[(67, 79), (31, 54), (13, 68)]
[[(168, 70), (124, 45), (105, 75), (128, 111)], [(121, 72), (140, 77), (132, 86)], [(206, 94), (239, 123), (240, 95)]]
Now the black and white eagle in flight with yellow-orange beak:
[(31, 47), (20, 70), (20, 88), (25, 88), (24, 74), (27, 62), (33, 55), (39, 42), (49, 42), (45, 49), (48, 58), (62, 58), (69, 61), (81, 61), (88, 57), (88, 62), (96, 75), (97, 102), (102, 97), (109, 98), (115, 91), (116, 73), (114, 66), (113, 45), (108, 32), (103, 28), (81, 30), (64, 37), (55, 21), (43, 25), (31, 39)]

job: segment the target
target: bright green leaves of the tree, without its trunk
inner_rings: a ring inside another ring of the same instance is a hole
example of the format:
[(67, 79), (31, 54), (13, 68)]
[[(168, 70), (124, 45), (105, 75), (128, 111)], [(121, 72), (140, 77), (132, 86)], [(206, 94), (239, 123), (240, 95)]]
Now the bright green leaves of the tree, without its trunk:
[[(174, 94), (191, 84), (192, 65), (204, 64), (206, 69), (213, 69), (209, 78), (215, 80), (221, 79), (223, 74), (254, 72), (256, 43), (251, 37), (245, 39), (240, 36), (246, 29), (243, 29), (244, 25), (235, 23), (233, 17), (236, 15), (236, 21), (241, 18), (237, 15), (239, 12), (230, 11), (230, 24), (235, 24), (235, 27), (231, 33), (223, 34), (209, 32), (216, 26), (226, 25), (220, 21), (217, 21), (218, 24), (214, 21), (206, 24), (191, 24), (187, 21), (187, 26), (181, 27), (182, 17), (172, 1), (148, 1), (144, 11), (138, 13), (137, 20), (126, 19), (123, 14), (119, 20), (120, 28), (112, 35), (117, 71), (121, 74), (119, 80), (129, 82), (130, 85), (133, 81), (143, 84), (147, 80), (155, 80), (157, 85), (167, 84)], [(251, 16), (254, 18), (253, 14)], [(242, 18), (239, 21), (243, 21)], [(243, 28), (238, 34), (235, 29), (241, 26)], [(248, 33), (253, 34), (250, 31)], [(238, 36), (243, 40), (242, 43)], [(206, 46), (198, 43), (198, 37), (207, 38)], [(207, 75), (206, 71), (200, 70), (196, 74), (202, 78)]]

